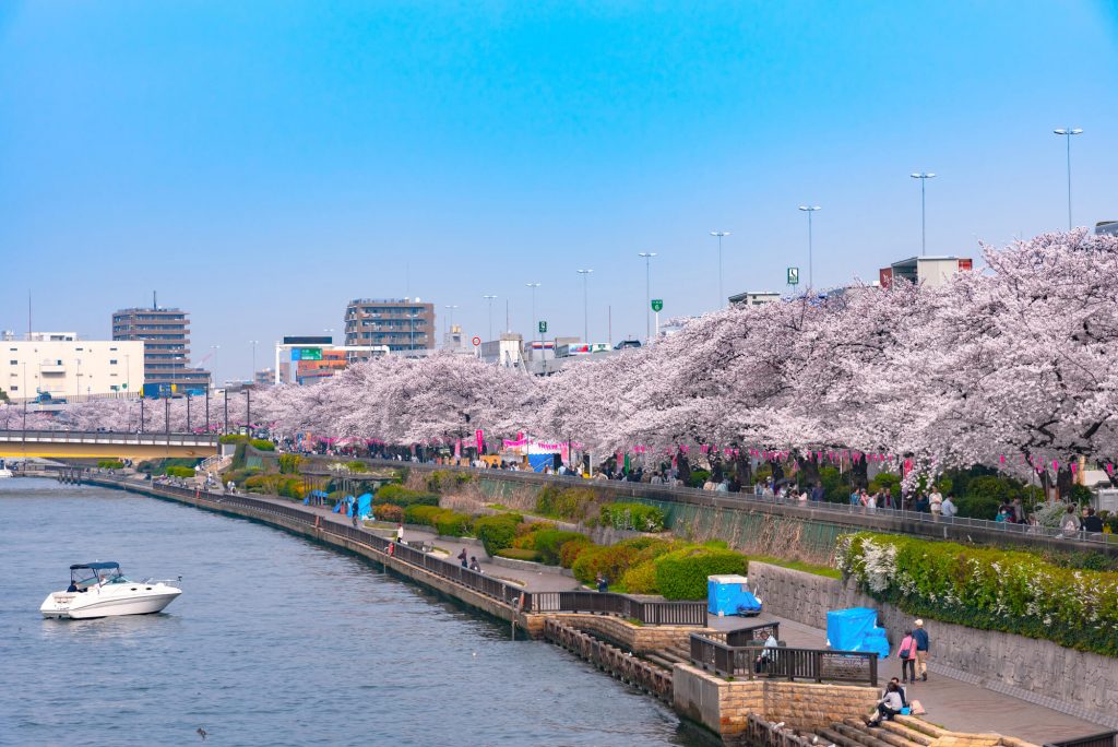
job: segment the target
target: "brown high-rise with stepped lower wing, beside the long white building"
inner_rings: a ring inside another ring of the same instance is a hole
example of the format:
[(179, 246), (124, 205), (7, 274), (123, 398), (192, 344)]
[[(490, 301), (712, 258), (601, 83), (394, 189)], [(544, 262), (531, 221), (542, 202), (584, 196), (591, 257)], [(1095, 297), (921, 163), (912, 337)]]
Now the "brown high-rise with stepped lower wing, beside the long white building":
[(113, 313), (114, 340), (142, 340), (144, 382), (174, 391), (205, 391), (209, 371), (190, 368), (190, 320), (181, 309), (153, 305)]

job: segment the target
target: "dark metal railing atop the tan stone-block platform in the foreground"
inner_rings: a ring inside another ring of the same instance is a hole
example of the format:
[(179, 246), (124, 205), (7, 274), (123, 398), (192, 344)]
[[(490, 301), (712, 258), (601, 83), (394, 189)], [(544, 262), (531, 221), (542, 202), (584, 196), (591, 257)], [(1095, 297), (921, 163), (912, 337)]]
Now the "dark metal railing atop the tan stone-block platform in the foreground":
[(812, 682), (855, 682), (877, 687), (878, 654), (864, 651), (733, 646), (691, 634), (691, 662), (722, 677)]

